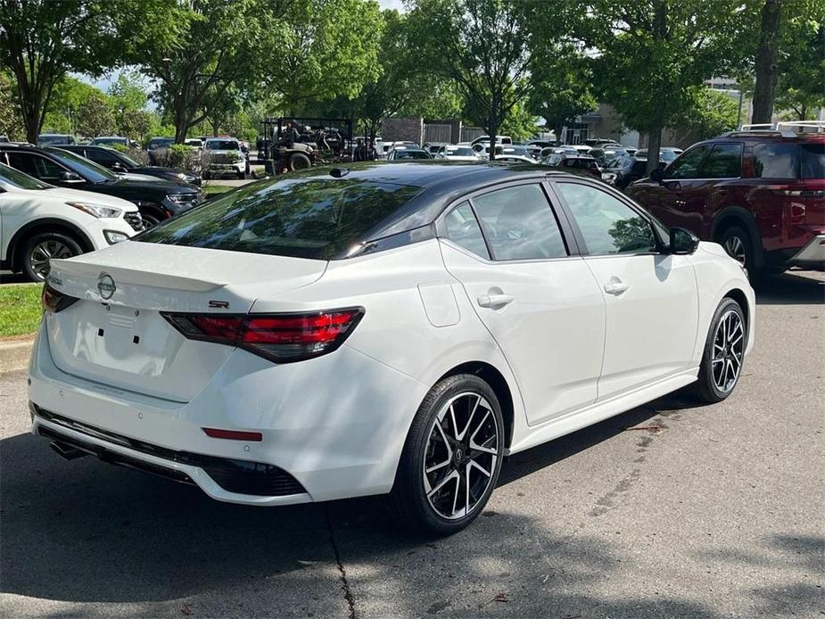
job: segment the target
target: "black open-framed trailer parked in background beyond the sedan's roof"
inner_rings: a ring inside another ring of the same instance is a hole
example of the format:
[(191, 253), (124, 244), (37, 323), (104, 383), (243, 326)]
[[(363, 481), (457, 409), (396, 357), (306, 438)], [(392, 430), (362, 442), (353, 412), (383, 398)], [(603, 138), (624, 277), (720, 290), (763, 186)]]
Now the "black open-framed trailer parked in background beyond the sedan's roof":
[[(298, 140), (285, 140), (286, 123), (298, 129)], [(268, 175), (314, 165), (351, 161), (352, 120), (306, 117), (266, 118), (258, 138), (258, 159)]]

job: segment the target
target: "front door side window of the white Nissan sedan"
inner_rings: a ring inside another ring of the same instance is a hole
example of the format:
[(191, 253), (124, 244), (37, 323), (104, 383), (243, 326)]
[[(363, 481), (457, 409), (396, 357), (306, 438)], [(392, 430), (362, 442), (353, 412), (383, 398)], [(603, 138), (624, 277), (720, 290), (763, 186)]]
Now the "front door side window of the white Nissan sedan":
[(558, 183), (590, 255), (656, 251), (648, 220), (596, 187)]

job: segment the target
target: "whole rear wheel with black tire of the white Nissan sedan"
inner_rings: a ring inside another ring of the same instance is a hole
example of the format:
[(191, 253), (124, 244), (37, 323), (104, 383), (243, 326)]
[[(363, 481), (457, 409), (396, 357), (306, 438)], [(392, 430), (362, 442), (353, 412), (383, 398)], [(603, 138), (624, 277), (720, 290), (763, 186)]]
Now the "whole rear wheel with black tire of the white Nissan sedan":
[(388, 497), (392, 517), (416, 532), (464, 529), (496, 487), (504, 439), (499, 400), (489, 384), (471, 374), (436, 384), (418, 407), (401, 453)]

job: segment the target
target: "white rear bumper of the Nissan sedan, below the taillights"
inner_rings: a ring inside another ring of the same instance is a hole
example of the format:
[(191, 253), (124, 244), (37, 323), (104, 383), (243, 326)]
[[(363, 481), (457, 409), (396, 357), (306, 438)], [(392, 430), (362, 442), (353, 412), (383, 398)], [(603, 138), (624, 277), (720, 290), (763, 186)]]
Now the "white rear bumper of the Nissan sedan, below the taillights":
[[(259, 506), (390, 491), (427, 390), (344, 345), (284, 366), (234, 351), (201, 393), (173, 402), (63, 372), (45, 334), (29, 377), (32, 433)], [(263, 440), (211, 438), (204, 427), (259, 431)], [(268, 476), (255, 473), (264, 468)]]

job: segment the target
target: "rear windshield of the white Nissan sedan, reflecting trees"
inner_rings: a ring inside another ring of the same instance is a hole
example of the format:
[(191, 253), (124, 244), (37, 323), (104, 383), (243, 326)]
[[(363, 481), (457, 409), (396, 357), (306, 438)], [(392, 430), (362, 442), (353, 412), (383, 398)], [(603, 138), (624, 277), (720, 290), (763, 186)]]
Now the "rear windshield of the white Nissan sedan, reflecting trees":
[(344, 257), (420, 187), (347, 178), (255, 183), (134, 240), (312, 260)]

